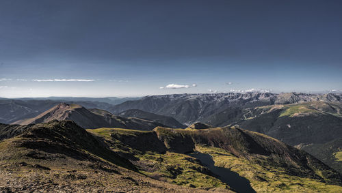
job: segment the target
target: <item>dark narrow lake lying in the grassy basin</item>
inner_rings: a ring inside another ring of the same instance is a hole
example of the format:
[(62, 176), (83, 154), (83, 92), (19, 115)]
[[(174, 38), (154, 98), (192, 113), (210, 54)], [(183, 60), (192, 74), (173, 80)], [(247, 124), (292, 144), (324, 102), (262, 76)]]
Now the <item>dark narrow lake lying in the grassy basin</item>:
[(215, 162), (213, 161), (213, 158), (211, 158), (211, 155), (199, 152), (189, 153), (188, 155), (200, 160), (200, 162), (209, 168), (212, 173), (218, 176), (218, 179), (228, 184), (237, 192), (255, 192), (250, 186), (250, 181), (248, 181), (248, 179), (241, 177), (238, 173), (235, 173), (228, 168), (220, 168), (215, 166)]

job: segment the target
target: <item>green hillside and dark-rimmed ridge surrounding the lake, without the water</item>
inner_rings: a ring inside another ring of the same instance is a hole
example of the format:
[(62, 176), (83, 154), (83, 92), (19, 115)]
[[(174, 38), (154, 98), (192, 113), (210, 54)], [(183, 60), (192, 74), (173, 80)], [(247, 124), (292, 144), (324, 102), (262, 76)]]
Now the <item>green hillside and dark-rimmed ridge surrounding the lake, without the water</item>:
[[(112, 149), (124, 149), (120, 155), (131, 157), (142, 173), (178, 185), (224, 187), (210, 172), (201, 169), (198, 161), (183, 154), (195, 150), (210, 153), (216, 165), (246, 177), (257, 192), (342, 191), (341, 176), (311, 155), (274, 138), (239, 128), (88, 131), (105, 138)], [(138, 141), (142, 138), (149, 143), (140, 145)]]

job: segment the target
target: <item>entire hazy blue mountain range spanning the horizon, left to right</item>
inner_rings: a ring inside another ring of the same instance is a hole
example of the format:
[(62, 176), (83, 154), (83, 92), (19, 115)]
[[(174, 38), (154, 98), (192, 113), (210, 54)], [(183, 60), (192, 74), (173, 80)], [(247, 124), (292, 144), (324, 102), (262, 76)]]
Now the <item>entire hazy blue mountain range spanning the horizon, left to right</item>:
[[(197, 121), (206, 122), (209, 117), (226, 111), (233, 113), (225, 118), (226, 122), (244, 108), (272, 104), (292, 104), (298, 102), (324, 101), (341, 102), (341, 93), (211, 93), (156, 95), (144, 98), (21, 98), (0, 99), (0, 122), (13, 123), (21, 119), (35, 117), (53, 106), (65, 102), (80, 104), (85, 108), (98, 108), (118, 115), (125, 110), (137, 109), (157, 115), (173, 117), (185, 125)], [(117, 104), (122, 102), (121, 104)], [(116, 105), (114, 105), (116, 104)], [(215, 124), (213, 124), (215, 125)], [(220, 124), (217, 124), (220, 125)]]

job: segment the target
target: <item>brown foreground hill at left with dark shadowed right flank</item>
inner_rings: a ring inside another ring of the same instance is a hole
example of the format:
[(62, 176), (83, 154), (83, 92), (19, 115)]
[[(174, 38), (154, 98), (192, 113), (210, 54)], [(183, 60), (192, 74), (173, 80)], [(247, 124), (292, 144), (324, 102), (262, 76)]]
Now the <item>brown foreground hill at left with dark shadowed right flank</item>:
[(71, 121), (1, 140), (0, 192), (194, 192), (135, 172), (101, 141)]

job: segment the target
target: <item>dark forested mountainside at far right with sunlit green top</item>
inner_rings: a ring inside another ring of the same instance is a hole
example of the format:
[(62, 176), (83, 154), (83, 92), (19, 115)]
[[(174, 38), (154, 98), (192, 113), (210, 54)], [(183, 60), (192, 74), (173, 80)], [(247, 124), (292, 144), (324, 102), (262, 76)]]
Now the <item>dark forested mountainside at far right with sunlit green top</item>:
[(342, 103), (304, 102), (249, 108), (233, 124), (289, 145), (326, 143), (342, 136)]

